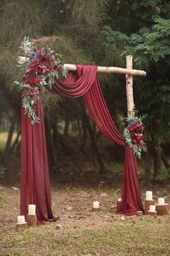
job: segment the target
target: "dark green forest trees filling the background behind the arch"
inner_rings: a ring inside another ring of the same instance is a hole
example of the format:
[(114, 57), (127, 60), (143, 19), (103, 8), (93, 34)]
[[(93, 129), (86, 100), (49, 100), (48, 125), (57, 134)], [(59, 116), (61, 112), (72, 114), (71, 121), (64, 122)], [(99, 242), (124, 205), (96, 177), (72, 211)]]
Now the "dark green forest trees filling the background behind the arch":
[[(16, 67), (18, 46), (24, 35), (29, 35), (37, 39), (37, 45), (48, 44), (62, 54), (63, 63), (125, 67), (125, 55), (133, 54), (134, 68), (147, 72), (145, 78), (134, 77), (135, 106), (140, 114), (148, 113), (148, 153), (143, 155), (145, 179), (167, 179), (169, 15), (170, 1), (163, 0), (1, 0), (0, 174), (5, 168), (8, 177), (19, 172), (20, 95), (14, 80), (21, 77)], [(99, 78), (109, 111), (122, 131), (126, 116), (125, 77), (102, 74)], [(122, 162), (122, 149), (100, 135), (80, 101), (52, 97), (49, 93), (43, 96), (48, 157), (54, 171), (67, 161), (96, 165), (96, 158), (101, 172), (110, 168), (111, 161)], [(79, 157), (75, 158), (75, 154)], [(17, 168), (10, 168), (10, 164)]]

